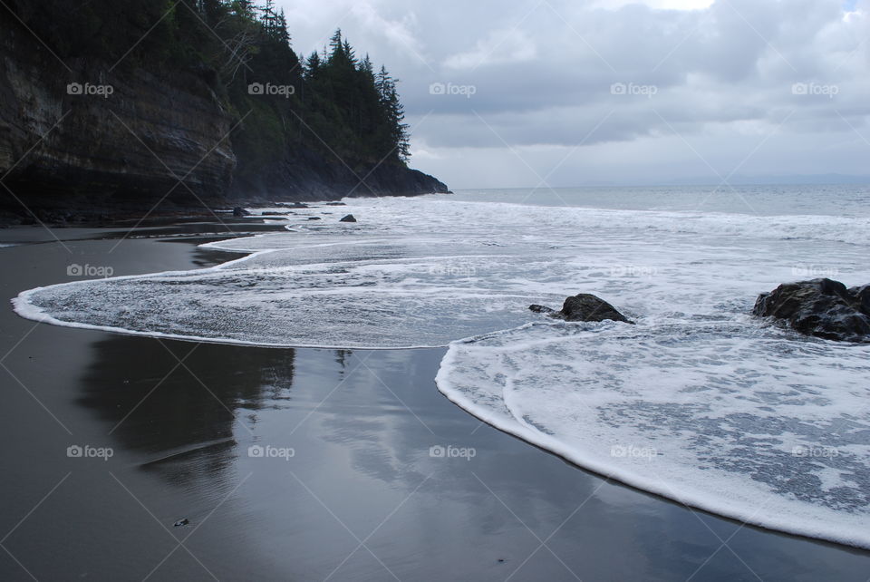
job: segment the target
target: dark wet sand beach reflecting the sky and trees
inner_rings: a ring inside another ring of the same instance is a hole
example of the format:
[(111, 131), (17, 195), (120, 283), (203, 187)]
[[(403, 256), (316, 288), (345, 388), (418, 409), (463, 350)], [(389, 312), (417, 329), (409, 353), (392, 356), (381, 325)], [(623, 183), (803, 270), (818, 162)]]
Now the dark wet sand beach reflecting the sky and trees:
[(437, 392), (441, 349), (156, 340), (34, 324), (8, 303), (72, 264), (237, 257), (179, 238), (222, 229), (55, 230), (63, 245), (0, 231), (41, 241), (0, 248), (0, 579), (870, 577), (870, 552), (691, 510), (478, 422)]

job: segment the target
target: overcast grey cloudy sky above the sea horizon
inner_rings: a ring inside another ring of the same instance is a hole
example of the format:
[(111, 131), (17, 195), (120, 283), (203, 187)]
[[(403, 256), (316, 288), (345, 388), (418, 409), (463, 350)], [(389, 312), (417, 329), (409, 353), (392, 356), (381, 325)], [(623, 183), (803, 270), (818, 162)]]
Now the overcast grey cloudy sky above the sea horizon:
[(870, 174), (870, 0), (278, 0), (401, 80), (451, 188)]

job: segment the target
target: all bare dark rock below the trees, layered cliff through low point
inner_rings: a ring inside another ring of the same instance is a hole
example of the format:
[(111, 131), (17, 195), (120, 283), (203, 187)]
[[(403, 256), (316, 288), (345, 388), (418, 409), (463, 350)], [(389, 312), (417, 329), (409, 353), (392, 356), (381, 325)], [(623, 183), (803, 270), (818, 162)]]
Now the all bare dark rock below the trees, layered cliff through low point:
[(208, 71), (158, 76), (112, 65), (62, 62), (0, 18), (0, 206), (7, 212), (159, 214), (233, 199), (447, 191), (403, 166), (349, 167), (317, 152), (288, 155), (256, 183), (234, 181), (232, 133), (244, 125), (212, 91)]

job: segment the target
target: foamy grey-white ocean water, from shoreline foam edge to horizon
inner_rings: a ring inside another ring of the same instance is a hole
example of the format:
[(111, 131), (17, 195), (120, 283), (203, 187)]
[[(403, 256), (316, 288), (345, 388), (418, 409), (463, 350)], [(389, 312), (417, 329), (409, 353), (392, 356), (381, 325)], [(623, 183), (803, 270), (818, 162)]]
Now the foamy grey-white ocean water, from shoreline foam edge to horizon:
[[(345, 202), (252, 209), (292, 214), (261, 214), (285, 232), (204, 244), (250, 253), (218, 267), (39, 287), (15, 309), (222, 344), (447, 346), (438, 390), (502, 431), (691, 507), (870, 548), (870, 346), (750, 315), (780, 283), (870, 282), (867, 187)], [(527, 309), (577, 293), (636, 325)]]

